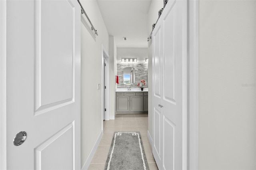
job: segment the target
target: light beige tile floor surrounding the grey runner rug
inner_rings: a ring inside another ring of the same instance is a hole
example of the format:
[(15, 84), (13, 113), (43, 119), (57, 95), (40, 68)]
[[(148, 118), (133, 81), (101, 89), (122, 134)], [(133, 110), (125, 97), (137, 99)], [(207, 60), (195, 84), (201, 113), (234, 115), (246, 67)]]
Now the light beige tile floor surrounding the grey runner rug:
[(148, 166), (150, 170), (158, 170), (156, 162), (152, 154), (152, 148), (148, 141), (148, 114), (124, 114), (116, 115), (115, 120), (104, 121), (104, 134), (100, 140), (100, 144), (92, 158), (92, 162), (88, 170), (104, 170), (104, 166), (108, 157), (112, 137), (115, 131), (129, 132), (139, 131)]

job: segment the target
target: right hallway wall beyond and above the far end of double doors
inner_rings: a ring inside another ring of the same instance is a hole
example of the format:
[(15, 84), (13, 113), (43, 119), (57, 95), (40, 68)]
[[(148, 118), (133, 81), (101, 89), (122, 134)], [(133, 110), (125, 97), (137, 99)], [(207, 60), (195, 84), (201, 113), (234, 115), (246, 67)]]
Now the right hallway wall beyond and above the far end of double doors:
[[(158, 11), (163, 8), (162, 0), (152, 0), (148, 10), (148, 36), (152, 31), (152, 24), (156, 23)], [(148, 132), (153, 135), (152, 123), (152, 39), (148, 42)]]

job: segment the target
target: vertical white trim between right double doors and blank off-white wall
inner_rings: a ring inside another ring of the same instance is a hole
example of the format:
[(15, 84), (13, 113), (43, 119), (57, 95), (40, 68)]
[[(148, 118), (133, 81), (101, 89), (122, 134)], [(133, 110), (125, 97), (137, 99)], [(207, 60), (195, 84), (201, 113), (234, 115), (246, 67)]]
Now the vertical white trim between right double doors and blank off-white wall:
[(188, 170), (198, 169), (198, 0), (188, 0)]

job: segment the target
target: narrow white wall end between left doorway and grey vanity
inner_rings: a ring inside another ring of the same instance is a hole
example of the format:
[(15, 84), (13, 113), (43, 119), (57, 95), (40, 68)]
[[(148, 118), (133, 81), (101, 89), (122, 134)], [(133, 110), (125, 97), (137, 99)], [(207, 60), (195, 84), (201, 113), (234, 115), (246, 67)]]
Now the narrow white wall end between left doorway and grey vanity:
[(109, 70), (110, 70), (110, 119), (116, 115), (116, 42), (109, 36)]

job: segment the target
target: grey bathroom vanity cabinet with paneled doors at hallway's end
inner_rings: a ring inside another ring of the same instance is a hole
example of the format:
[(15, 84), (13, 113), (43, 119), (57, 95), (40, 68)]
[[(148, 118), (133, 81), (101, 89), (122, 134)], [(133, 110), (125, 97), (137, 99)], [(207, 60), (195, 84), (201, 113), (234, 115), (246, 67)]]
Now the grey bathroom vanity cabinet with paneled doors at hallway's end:
[(116, 113), (142, 113), (148, 111), (147, 91), (116, 92)]

